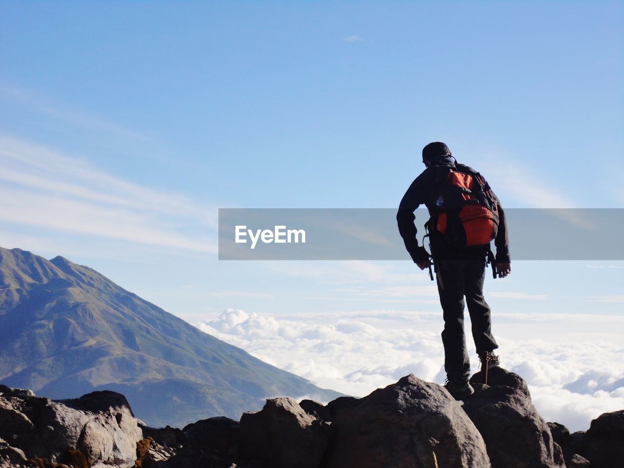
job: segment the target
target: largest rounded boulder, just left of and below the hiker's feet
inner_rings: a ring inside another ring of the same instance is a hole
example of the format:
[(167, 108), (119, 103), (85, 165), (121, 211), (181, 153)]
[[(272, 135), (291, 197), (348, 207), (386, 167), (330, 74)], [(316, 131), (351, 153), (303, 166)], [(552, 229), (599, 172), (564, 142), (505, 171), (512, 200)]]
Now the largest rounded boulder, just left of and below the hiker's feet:
[(341, 408), (332, 427), (327, 468), (490, 467), (461, 405), (413, 374)]

